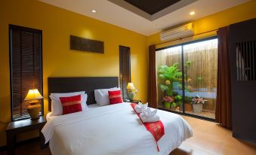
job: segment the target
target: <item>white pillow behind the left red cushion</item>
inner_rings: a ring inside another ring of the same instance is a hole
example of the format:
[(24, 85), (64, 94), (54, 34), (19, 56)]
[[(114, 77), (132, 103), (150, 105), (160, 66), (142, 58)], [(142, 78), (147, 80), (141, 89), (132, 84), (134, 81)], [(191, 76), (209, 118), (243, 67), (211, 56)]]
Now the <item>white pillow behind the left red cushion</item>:
[(60, 97), (69, 97), (69, 96), (78, 96), (81, 95), (81, 105), (82, 111), (88, 109), (86, 102), (87, 102), (87, 94), (83, 92), (75, 92), (75, 93), (51, 93), (51, 112), (52, 116), (59, 116), (63, 114), (63, 108), (60, 102)]

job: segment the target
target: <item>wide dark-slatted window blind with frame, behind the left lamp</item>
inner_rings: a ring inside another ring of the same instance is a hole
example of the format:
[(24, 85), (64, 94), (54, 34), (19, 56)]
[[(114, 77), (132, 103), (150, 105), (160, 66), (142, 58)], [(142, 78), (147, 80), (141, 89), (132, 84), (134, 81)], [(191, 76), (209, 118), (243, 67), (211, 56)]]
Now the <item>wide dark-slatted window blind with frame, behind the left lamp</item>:
[(20, 120), (29, 117), (24, 101), (29, 89), (42, 94), (42, 31), (10, 25), (9, 33), (11, 119)]

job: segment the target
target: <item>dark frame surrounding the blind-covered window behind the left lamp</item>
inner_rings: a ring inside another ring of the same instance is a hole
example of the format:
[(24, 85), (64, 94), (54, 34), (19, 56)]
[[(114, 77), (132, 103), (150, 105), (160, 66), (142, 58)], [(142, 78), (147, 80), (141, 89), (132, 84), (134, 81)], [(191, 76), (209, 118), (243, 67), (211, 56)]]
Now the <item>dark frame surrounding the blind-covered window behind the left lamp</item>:
[[(23, 26), (16, 26), (16, 25), (12, 25), (9, 24), (8, 26), (8, 35), (9, 35), (9, 71), (10, 71), (10, 98), (11, 98), (11, 122), (17, 121), (17, 120), (25, 120), (25, 119), (29, 119), (29, 115), (28, 116), (24, 116), (24, 117), (20, 117), (20, 118), (14, 118), (13, 116), (13, 93), (12, 93), (12, 87), (13, 87), (13, 75), (12, 75), (12, 38), (11, 38), (11, 31), (12, 30), (19, 30), (19, 31), (24, 31), (24, 32), (31, 32), (34, 34), (39, 34), (40, 35), (40, 45), (41, 45), (41, 52), (40, 52), (40, 60), (41, 60), (41, 91), (39, 90), (39, 92), (41, 93), (42, 96), (43, 95), (43, 62), (42, 62), (42, 30), (39, 29), (32, 29), (32, 28), (27, 28), (27, 27), (23, 27)], [(39, 116), (43, 116), (44, 115), (44, 99), (42, 99), (41, 101), (41, 113), (39, 114)]]

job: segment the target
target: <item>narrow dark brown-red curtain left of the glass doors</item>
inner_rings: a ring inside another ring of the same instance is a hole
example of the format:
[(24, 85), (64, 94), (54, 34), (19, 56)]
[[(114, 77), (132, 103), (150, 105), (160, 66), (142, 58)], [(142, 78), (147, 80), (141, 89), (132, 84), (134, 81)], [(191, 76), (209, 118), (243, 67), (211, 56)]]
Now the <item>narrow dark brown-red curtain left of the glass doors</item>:
[(149, 47), (149, 81), (148, 102), (150, 107), (157, 108), (156, 102), (156, 45)]

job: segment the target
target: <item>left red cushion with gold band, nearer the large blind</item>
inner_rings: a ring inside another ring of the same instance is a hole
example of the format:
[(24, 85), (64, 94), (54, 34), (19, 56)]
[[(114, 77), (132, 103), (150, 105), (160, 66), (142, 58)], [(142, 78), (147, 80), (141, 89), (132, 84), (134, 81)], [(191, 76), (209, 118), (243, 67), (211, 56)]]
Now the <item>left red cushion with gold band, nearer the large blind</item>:
[(60, 97), (60, 102), (63, 108), (63, 114), (71, 114), (82, 111), (81, 95)]

